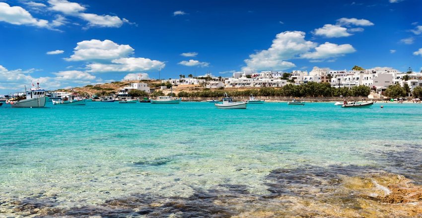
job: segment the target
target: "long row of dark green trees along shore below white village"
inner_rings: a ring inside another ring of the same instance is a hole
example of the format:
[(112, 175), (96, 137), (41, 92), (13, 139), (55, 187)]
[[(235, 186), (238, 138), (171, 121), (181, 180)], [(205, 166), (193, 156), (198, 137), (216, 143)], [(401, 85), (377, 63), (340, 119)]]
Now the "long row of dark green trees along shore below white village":
[(333, 96), (368, 96), (370, 88), (365, 85), (354, 86), (352, 88), (342, 87), (335, 88), (330, 83), (308, 82), (302, 85), (287, 84), (280, 88), (266, 87), (260, 89), (248, 90), (204, 90), (195, 92), (181, 91), (178, 97), (221, 97), (224, 93), (230, 96), (293, 96), (293, 97), (333, 97)]

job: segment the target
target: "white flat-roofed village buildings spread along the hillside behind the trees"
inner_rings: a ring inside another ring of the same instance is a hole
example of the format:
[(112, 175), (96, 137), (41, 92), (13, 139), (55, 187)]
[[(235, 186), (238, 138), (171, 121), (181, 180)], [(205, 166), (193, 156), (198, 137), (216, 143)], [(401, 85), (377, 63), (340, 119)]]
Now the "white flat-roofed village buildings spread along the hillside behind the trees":
[[(261, 73), (236, 72), (232, 77), (215, 77), (210, 74), (194, 77), (190, 75), (185, 78), (180, 75), (178, 79), (163, 79), (163, 83), (170, 83), (175, 86), (203, 85), (207, 88), (240, 88), (240, 87), (282, 87), (286, 84), (305, 84), (308, 82), (328, 82), (331, 86), (349, 87), (365, 85), (375, 93), (381, 94), (389, 85), (407, 84), (410, 91), (417, 86), (422, 86), (422, 73), (414, 73), (411, 69), (408, 72), (399, 72), (392, 68), (376, 67), (366, 70), (330, 70), (327, 68), (314, 67), (312, 71), (294, 70), (290, 73), (263, 71)], [(162, 87), (162, 88), (165, 88)], [(150, 93), (146, 83), (133, 83), (125, 89), (139, 89)]]

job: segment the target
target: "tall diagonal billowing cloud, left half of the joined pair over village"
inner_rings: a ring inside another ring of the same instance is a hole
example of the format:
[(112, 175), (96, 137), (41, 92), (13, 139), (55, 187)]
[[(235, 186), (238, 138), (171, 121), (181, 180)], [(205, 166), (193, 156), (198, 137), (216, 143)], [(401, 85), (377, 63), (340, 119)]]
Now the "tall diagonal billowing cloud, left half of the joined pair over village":
[(300, 54), (315, 48), (317, 43), (305, 41), (305, 33), (300, 31), (286, 31), (277, 34), (273, 44), (267, 50), (256, 52), (244, 60), (246, 67), (242, 71), (261, 71), (273, 68), (282, 71), (296, 67), (291, 62), (284, 60), (298, 58)]

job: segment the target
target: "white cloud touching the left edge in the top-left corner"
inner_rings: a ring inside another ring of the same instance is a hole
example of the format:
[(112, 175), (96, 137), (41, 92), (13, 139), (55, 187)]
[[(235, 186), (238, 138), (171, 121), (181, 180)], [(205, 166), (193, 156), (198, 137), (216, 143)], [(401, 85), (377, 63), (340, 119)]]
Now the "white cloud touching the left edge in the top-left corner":
[(10, 6), (5, 2), (0, 2), (0, 21), (15, 25), (31, 25), (37, 27), (48, 27), (48, 21), (36, 19), (20, 6)]

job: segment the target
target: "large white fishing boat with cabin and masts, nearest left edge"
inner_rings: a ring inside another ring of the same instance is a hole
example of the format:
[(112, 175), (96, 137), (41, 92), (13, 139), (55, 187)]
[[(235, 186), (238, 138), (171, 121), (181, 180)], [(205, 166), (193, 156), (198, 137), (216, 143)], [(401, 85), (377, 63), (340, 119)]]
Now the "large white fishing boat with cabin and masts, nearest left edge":
[(22, 96), (10, 98), (6, 101), (12, 107), (45, 107), (48, 101), (46, 96), (46, 90), (40, 89), (39, 83), (37, 82), (37, 88), (31, 88), (25, 91), (26, 97), (22, 99)]

